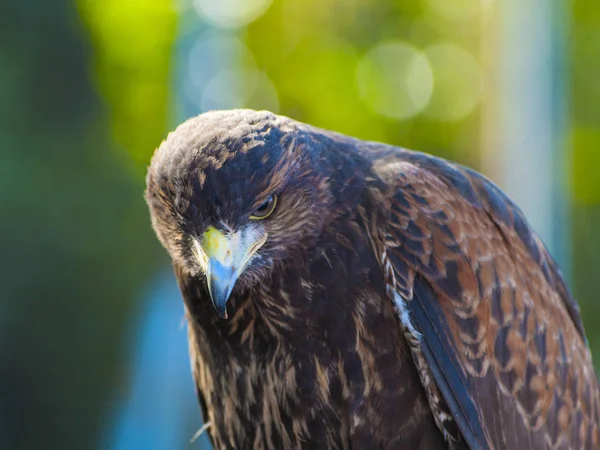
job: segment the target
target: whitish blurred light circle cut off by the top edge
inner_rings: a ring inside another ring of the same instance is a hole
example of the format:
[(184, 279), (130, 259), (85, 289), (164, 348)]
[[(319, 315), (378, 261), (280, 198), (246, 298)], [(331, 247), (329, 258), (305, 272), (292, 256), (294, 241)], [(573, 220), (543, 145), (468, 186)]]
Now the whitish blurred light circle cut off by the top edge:
[(239, 28), (262, 16), (272, 0), (193, 0), (198, 15), (221, 28)]

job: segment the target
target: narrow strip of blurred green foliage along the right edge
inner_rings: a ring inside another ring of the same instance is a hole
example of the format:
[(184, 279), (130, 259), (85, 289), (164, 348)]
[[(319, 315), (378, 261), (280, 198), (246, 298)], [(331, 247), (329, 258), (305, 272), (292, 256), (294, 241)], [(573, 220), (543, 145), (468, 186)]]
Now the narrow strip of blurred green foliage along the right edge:
[(570, 5), (573, 290), (600, 369), (600, 5)]

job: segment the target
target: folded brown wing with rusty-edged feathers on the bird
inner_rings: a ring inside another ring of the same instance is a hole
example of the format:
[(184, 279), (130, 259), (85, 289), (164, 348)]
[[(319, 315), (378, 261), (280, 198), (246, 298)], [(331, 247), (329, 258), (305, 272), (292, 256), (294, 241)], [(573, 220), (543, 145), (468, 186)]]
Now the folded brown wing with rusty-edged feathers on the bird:
[(441, 159), (390, 152), (375, 169), (389, 213), (375, 247), (470, 447), (600, 448), (579, 308), (522, 212)]

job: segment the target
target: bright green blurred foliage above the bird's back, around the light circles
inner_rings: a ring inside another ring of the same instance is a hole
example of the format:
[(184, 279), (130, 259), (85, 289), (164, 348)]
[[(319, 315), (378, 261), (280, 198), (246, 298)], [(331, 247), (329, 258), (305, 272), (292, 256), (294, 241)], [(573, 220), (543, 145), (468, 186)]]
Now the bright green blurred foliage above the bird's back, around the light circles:
[[(466, 51), (477, 54), (479, 22), (471, 17), (449, 20), (432, 12), (430, 3), (436, 4), (433, 0), (280, 0), (248, 27), (245, 37), (257, 64), (277, 86), (282, 114), (362, 139), (418, 148), (475, 166), (478, 110), (458, 120), (438, 120), (435, 113), (425, 111), (399, 122), (374, 110), (356, 87), (361, 57), (381, 42), (418, 48), (460, 43)], [(478, 7), (478, 2), (463, 3)], [(431, 69), (439, 78), (444, 69), (447, 73), (446, 67)], [(473, 83), (471, 79), (469, 82), (467, 89), (471, 90)], [(371, 85), (378, 88), (376, 82)], [(394, 96), (395, 92), (386, 87), (387, 93), (375, 95)], [(452, 88), (456, 99), (456, 85)], [(443, 93), (444, 89), (437, 92)], [(431, 103), (447, 106), (436, 93)]]

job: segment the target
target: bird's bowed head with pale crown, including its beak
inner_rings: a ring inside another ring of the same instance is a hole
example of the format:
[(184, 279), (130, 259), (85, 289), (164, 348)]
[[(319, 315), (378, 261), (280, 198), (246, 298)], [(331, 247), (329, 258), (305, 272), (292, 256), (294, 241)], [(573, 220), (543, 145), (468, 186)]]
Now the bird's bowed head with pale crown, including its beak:
[(298, 125), (268, 112), (205, 113), (169, 134), (152, 159), (154, 230), (178, 266), (206, 279), (221, 317), (232, 292), (305, 260), (332, 218), (321, 146)]

